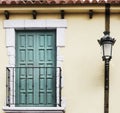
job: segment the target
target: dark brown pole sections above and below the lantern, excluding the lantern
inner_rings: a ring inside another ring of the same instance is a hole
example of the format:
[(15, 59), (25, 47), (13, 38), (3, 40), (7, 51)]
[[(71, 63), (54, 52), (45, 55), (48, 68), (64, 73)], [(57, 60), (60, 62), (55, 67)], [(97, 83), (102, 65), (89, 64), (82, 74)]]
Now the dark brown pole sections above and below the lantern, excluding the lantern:
[[(105, 4), (105, 32), (110, 35), (110, 4)], [(104, 113), (109, 113), (109, 60), (105, 60)]]

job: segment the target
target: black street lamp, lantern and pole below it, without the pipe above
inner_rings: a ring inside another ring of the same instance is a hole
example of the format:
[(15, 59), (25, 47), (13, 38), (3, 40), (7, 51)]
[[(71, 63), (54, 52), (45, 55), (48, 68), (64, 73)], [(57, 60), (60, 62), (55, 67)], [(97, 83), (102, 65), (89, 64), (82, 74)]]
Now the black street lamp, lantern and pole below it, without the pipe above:
[(109, 113), (109, 61), (112, 58), (112, 46), (115, 39), (109, 36), (109, 32), (104, 32), (104, 36), (98, 42), (103, 49), (102, 59), (105, 61), (104, 113)]

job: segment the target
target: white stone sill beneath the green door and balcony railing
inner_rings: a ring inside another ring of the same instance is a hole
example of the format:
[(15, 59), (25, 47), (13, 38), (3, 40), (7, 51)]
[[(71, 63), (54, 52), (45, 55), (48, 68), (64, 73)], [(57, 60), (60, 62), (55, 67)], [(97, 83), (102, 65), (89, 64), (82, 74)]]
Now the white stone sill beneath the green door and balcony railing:
[(5, 113), (64, 113), (64, 107), (3, 107)]

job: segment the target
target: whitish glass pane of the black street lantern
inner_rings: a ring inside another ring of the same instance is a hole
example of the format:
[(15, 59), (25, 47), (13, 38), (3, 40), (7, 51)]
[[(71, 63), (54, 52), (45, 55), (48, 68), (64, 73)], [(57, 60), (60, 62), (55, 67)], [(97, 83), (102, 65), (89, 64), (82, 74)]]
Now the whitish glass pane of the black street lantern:
[(112, 44), (103, 44), (103, 56), (110, 57), (112, 55)]

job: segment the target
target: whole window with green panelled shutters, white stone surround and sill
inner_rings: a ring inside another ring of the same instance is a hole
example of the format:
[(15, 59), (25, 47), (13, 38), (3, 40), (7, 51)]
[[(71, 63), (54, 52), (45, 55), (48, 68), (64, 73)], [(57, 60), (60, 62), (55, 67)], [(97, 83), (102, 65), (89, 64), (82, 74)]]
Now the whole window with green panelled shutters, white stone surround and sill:
[(4, 21), (10, 87), (5, 112), (63, 112), (59, 50), (64, 47), (66, 26), (66, 20)]

